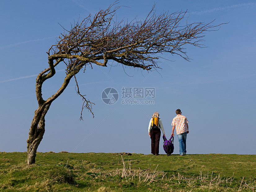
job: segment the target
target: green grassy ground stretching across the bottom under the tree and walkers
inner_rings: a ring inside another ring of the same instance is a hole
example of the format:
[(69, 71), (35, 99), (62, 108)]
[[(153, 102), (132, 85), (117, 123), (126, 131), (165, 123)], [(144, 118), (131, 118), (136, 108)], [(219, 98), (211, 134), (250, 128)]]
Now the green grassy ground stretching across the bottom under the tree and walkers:
[(256, 191), (256, 155), (0, 152), (0, 191)]

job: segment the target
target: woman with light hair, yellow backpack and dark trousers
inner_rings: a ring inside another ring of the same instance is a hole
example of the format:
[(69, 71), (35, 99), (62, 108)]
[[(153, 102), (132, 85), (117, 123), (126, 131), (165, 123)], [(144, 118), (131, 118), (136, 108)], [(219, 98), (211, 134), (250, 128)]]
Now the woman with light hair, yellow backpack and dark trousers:
[(152, 115), (152, 118), (148, 125), (148, 135), (151, 138), (151, 153), (153, 155), (159, 155), (159, 141), (161, 136), (161, 131), (165, 135), (165, 130), (161, 119), (159, 119), (159, 113), (156, 111)]

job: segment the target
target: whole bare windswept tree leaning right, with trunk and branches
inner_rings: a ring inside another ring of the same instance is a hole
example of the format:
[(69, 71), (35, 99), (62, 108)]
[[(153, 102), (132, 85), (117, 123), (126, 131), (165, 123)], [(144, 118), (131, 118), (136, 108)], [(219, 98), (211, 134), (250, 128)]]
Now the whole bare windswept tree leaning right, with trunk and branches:
[[(134, 68), (153, 70), (159, 68), (157, 59), (161, 58), (161, 53), (176, 54), (189, 60), (184, 46), (203, 47), (201, 41), (205, 32), (219, 26), (212, 25), (212, 22), (188, 24), (186, 11), (157, 15), (154, 6), (144, 20), (135, 18), (131, 22), (117, 22), (114, 16), (118, 8), (114, 3), (108, 9), (100, 10), (93, 18), (89, 15), (82, 22), (71, 25), (70, 30), (64, 29), (55, 45), (48, 50), (49, 67), (36, 78), (38, 109), (29, 130), (27, 164), (35, 163), (36, 151), (45, 132), (45, 116), (51, 103), (63, 93), (71, 78), (76, 81), (76, 74), (84, 71), (86, 66), (95, 63), (107, 67), (108, 61), (112, 60)], [(55, 75), (55, 68), (61, 64), (66, 65), (64, 81), (60, 89), (45, 100), (42, 85)], [(94, 103), (79, 92), (77, 81), (76, 87), (77, 94), (83, 99), (82, 109), (86, 108), (94, 117)]]

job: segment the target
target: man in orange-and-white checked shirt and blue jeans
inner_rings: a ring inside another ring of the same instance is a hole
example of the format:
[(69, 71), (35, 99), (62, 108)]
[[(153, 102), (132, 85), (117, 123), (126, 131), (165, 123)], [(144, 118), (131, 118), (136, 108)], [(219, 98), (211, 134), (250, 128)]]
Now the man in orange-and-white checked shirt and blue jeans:
[(186, 139), (188, 131), (188, 120), (185, 116), (181, 115), (180, 109), (176, 110), (177, 116), (172, 120), (172, 134), (174, 136), (174, 129), (176, 127), (177, 136), (179, 139), (179, 155), (186, 155)]

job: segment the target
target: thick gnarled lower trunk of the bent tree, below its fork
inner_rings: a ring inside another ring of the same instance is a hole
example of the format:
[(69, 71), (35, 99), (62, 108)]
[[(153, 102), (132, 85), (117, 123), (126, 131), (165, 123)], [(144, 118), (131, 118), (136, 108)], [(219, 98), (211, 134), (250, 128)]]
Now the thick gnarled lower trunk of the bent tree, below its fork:
[(27, 164), (35, 163), (37, 148), (42, 141), (45, 132), (45, 115), (50, 108), (51, 103), (39, 106), (35, 111), (34, 118), (29, 130), (29, 138), (27, 140)]

